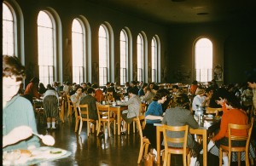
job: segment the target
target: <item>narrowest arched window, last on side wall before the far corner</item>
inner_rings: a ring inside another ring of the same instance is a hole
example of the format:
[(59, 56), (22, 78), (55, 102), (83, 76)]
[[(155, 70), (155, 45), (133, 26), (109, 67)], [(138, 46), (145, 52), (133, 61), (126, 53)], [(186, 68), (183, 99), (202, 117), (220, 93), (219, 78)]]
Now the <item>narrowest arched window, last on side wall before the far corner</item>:
[(152, 82), (157, 81), (157, 55), (158, 55), (157, 53), (158, 53), (157, 42), (155, 37), (153, 37), (151, 41)]

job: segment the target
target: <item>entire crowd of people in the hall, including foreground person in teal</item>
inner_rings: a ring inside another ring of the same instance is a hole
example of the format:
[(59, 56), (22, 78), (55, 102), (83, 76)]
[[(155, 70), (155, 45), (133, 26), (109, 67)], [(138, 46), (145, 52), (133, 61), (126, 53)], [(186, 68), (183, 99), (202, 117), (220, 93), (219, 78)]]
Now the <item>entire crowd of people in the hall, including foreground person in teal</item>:
[[(23, 89), (22, 79), (25, 77), (24, 66), (15, 57), (3, 55), (3, 151), (9, 149), (32, 149), (39, 146), (38, 138), (32, 136), (37, 133), (32, 102), (34, 98), (44, 97), (44, 112), (47, 120), (46, 128), (55, 129), (58, 117), (60, 100), (67, 100), (67, 95), (76, 112), (79, 104), (88, 104), (90, 118), (98, 119), (96, 105), (102, 104), (105, 94), (113, 93), (113, 100), (121, 100), (121, 105), (127, 106), (122, 112), (122, 135), (126, 135), (126, 123), (131, 123), (133, 117), (139, 116), (140, 104), (147, 103), (145, 113), (146, 126), (143, 136), (150, 141), (150, 148), (156, 155), (156, 128), (154, 123), (165, 123), (172, 126), (189, 125), (189, 128), (197, 129), (198, 123), (193, 116), (196, 106), (222, 107), (222, 120), (218, 133), (209, 140), (208, 151), (213, 146), (228, 144), (228, 124), (247, 124), (249, 115), (242, 101), (252, 102), (256, 107), (256, 77), (249, 77), (247, 83), (229, 83), (218, 85), (215, 80), (208, 83), (194, 81), (187, 85), (187, 89), (179, 88), (179, 84), (172, 84), (171, 89), (161, 88), (158, 83), (143, 83), (137, 81), (127, 82), (124, 86), (119, 83), (106, 83), (99, 87), (97, 83), (70, 83), (61, 85), (59, 82), (46, 85), (40, 83), (38, 77), (33, 77), (26, 89)], [(11, 90), (13, 93), (9, 93)], [(124, 100), (128, 96), (129, 100)], [(27, 99), (27, 100), (26, 100)], [(22, 104), (22, 106), (20, 106)], [(26, 108), (25, 110), (23, 110)], [(22, 109), (22, 111), (20, 110)], [(25, 114), (26, 113), (26, 114)], [(26, 118), (29, 116), (29, 118)], [(12, 119), (10, 119), (10, 117)], [(21, 120), (15, 121), (20, 118)], [(28, 120), (26, 120), (28, 119)], [(93, 125), (93, 124), (92, 124)], [(20, 128), (22, 135), (20, 135)], [(254, 131), (255, 132), (255, 131)], [(247, 131), (235, 132), (236, 135), (247, 135)], [(100, 133), (100, 137), (104, 132)], [(180, 137), (182, 135), (167, 133), (167, 135)], [(255, 133), (252, 144), (255, 146)], [(21, 141), (20, 141), (21, 140)], [(18, 143), (17, 143), (18, 142)], [(162, 144), (163, 145), (163, 144)], [(243, 146), (244, 141), (236, 141), (234, 146)], [(175, 146), (175, 145), (169, 145)], [(181, 145), (178, 145), (181, 147)], [(188, 135), (190, 149), (190, 165), (198, 163), (199, 154), (202, 153), (201, 145), (195, 137)], [(163, 146), (162, 146), (163, 149)], [(255, 153), (251, 152), (252, 157)], [(223, 155), (224, 165), (228, 165), (227, 153)]]

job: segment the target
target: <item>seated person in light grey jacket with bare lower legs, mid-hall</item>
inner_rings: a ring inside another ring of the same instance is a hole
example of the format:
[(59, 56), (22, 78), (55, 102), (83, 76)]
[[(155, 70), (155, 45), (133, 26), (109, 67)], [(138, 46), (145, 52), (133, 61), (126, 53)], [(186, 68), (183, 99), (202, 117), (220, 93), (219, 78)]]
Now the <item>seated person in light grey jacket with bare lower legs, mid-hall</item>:
[(123, 101), (121, 103), (123, 106), (128, 106), (128, 110), (124, 110), (121, 115), (123, 118), (122, 135), (126, 134), (126, 123), (131, 123), (133, 117), (138, 117), (140, 104), (142, 103), (137, 95), (137, 89), (129, 89), (129, 96), (130, 99), (128, 101)]

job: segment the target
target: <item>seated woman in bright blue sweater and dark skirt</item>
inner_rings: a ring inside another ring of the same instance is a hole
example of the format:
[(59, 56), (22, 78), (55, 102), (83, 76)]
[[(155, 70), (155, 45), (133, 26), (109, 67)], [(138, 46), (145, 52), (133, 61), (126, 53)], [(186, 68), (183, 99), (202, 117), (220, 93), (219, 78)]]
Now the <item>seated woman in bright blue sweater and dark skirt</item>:
[[(147, 112), (145, 113), (146, 126), (143, 130), (143, 136), (146, 136), (150, 141), (153, 153), (156, 155), (156, 127), (154, 123), (161, 123), (163, 119), (163, 109), (162, 104), (166, 101), (167, 93), (165, 89), (159, 89), (153, 101), (148, 106)], [(162, 139), (161, 139), (162, 140)]]

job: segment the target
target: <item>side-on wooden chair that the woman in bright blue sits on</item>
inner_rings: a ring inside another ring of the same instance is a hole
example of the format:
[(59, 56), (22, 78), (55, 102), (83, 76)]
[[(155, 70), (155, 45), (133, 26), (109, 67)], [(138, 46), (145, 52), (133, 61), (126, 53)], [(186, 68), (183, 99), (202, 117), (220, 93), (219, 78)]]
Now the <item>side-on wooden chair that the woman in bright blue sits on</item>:
[[(137, 163), (141, 163), (143, 156), (145, 156), (148, 153), (148, 146), (150, 145), (150, 142), (148, 138), (143, 137), (143, 126), (141, 125), (141, 123), (142, 121), (145, 121), (145, 117), (144, 116), (134, 117), (133, 120), (137, 123), (137, 129), (140, 135), (140, 152), (137, 158)], [(144, 155), (143, 155), (143, 152), (144, 152)]]

